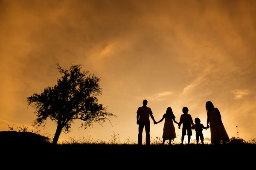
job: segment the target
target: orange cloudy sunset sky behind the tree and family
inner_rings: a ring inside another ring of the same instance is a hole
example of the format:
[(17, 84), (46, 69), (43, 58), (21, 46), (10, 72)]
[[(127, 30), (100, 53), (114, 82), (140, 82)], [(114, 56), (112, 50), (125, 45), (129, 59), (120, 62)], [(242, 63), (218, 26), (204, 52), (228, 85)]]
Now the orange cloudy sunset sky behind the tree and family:
[[(117, 117), (70, 138), (137, 142), (144, 99), (159, 121), (168, 107), (179, 121), (188, 107), (206, 126), (205, 103), (221, 112), (229, 137), (256, 138), (256, 1), (254, 0), (0, 0), (0, 131), (34, 129), (26, 98), (55, 85), (62, 68), (81, 64), (101, 81), (99, 103)], [(151, 120), (151, 142), (164, 122)], [(175, 124), (180, 142), (181, 130)], [(195, 139), (195, 131), (192, 132)], [(210, 138), (210, 130), (204, 130)], [(185, 137), (185, 141), (187, 136)], [(145, 141), (145, 131), (143, 131)]]

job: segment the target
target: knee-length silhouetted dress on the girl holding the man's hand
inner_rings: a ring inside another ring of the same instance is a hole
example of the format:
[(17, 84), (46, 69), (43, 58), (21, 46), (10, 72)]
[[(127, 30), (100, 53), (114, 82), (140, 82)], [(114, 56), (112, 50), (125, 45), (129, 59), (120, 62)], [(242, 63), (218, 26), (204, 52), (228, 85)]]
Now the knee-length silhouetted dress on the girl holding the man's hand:
[(165, 117), (164, 127), (163, 127), (163, 139), (174, 139), (176, 138), (175, 127), (173, 125), (173, 120), (175, 116), (170, 116), (169, 114), (164, 114)]

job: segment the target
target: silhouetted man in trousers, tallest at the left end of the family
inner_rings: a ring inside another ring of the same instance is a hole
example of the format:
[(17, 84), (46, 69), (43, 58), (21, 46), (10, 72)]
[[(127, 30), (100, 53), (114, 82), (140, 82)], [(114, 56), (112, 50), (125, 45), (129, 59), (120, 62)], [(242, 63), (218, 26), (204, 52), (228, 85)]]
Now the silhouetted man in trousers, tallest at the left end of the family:
[(143, 106), (139, 107), (137, 110), (137, 125), (139, 125), (139, 134), (138, 134), (138, 144), (142, 145), (142, 133), (145, 126), (145, 132), (146, 132), (146, 145), (150, 144), (150, 121), (149, 116), (154, 121), (154, 124), (157, 124), (157, 122), (154, 119), (153, 113), (151, 111), (151, 108), (147, 107), (148, 101), (145, 99), (143, 100)]

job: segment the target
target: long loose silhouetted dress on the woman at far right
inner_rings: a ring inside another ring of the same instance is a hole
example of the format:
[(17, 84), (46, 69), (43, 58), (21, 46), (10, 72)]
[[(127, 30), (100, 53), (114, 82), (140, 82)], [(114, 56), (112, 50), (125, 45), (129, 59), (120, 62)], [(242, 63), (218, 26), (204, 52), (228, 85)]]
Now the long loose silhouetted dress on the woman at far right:
[(216, 143), (221, 140), (225, 142), (230, 141), (223, 123), (220, 122), (219, 114), (218, 108), (207, 112), (211, 131), (211, 143)]

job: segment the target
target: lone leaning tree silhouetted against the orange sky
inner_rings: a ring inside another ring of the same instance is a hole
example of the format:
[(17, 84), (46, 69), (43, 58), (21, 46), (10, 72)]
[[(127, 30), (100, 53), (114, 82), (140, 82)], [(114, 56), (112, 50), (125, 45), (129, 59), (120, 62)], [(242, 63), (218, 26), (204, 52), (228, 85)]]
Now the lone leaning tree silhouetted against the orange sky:
[(108, 120), (111, 123), (108, 118), (116, 116), (107, 111), (108, 106), (98, 104), (96, 97), (102, 95), (100, 78), (89, 71), (81, 71), (81, 65), (71, 65), (69, 69), (56, 65), (61, 74), (57, 84), (26, 98), (28, 107), (34, 107), (37, 116), (32, 126), (45, 127), (48, 118), (55, 122), (57, 129), (52, 143), (57, 144), (61, 131), (69, 133), (75, 119), (83, 121), (80, 128), (84, 129), (93, 122), (102, 125)]

